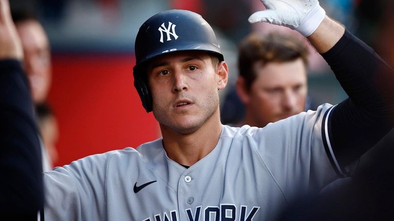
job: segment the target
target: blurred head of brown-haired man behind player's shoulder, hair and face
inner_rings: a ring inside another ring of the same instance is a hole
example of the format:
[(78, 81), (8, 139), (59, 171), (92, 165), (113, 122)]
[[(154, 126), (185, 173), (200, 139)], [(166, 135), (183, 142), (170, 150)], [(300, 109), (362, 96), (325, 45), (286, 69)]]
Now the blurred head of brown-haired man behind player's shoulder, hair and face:
[(240, 42), (238, 97), (242, 125), (264, 127), (305, 110), (308, 48), (291, 34), (252, 33)]

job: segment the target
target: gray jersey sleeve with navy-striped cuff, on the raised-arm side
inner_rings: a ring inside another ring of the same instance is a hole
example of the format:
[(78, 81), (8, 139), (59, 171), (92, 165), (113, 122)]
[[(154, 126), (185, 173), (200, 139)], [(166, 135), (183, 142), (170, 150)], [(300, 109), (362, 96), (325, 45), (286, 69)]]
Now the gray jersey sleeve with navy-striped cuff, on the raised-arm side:
[(254, 132), (261, 160), (285, 196), (318, 192), (339, 177), (334, 155), (325, 148), (324, 125), (333, 108), (323, 104)]

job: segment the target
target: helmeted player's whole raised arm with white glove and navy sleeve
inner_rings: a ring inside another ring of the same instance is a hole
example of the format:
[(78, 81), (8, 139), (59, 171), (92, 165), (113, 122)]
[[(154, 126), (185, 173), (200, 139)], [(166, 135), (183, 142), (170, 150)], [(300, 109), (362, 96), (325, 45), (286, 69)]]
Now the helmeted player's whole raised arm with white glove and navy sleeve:
[[(261, 0), (267, 10), (251, 23), (297, 30), (329, 63), (349, 96), (322, 125), (327, 154), (338, 173), (394, 126), (394, 71), (371, 48), (325, 15), (317, 0)], [(323, 139), (324, 140), (324, 139)]]

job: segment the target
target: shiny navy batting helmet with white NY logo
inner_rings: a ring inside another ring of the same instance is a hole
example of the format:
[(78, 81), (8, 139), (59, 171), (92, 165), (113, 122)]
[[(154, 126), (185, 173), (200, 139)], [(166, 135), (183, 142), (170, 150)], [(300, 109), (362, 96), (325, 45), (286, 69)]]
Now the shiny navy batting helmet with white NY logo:
[(201, 15), (186, 10), (160, 12), (141, 26), (138, 31), (133, 68), (134, 86), (146, 112), (152, 111), (152, 97), (146, 75), (146, 62), (175, 51), (206, 51), (223, 61), (215, 33)]

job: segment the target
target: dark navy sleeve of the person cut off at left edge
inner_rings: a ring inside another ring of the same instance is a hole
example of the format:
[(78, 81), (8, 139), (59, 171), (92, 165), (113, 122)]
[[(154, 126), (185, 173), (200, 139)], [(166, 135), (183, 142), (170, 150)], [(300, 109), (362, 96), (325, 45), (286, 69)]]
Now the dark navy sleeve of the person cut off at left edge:
[(0, 125), (0, 213), (37, 219), (43, 205), (40, 144), (28, 81), (16, 60), (0, 60)]

